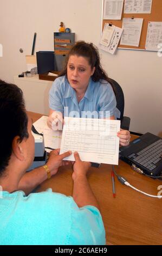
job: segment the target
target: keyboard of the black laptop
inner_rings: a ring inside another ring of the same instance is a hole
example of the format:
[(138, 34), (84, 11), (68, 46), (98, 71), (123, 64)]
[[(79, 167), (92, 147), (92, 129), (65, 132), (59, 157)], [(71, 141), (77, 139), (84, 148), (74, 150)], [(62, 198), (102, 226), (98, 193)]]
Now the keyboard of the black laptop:
[(155, 164), (157, 164), (162, 159), (162, 139), (149, 145), (147, 148), (142, 149), (136, 154), (129, 155), (129, 158), (135, 162), (141, 164), (149, 170), (153, 170)]

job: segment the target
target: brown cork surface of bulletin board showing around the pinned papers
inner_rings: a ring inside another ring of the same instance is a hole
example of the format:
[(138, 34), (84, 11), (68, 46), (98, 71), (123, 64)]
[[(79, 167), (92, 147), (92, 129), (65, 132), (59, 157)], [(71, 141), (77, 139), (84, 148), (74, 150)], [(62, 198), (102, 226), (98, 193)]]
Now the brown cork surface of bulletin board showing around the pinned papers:
[(162, 0), (152, 0), (151, 14), (124, 14), (124, 7), (122, 9), (121, 20), (103, 20), (102, 21), (102, 30), (105, 23), (111, 23), (116, 27), (122, 28), (122, 19), (123, 18), (141, 18), (144, 19), (142, 23), (141, 36), (139, 41), (139, 46), (128, 46), (128, 45), (118, 45), (118, 48), (132, 48), (136, 50), (146, 50), (146, 36), (147, 36), (147, 27), (149, 21), (158, 21), (162, 22)]

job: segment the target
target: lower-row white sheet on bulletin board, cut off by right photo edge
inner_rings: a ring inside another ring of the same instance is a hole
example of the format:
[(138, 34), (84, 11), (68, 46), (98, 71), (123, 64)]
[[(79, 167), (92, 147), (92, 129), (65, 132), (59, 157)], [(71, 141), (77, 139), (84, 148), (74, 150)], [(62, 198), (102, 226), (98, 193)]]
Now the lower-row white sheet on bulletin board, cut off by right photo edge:
[(148, 51), (159, 51), (162, 46), (162, 22), (148, 22), (145, 48)]

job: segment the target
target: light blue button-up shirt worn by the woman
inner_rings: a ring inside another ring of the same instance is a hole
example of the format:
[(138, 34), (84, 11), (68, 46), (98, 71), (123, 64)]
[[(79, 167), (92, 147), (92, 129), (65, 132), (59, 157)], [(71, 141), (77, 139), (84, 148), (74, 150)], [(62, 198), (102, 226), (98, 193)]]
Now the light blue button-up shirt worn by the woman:
[(93, 82), (92, 78), (79, 103), (66, 76), (56, 78), (49, 92), (49, 107), (64, 117), (109, 118), (114, 115), (120, 118), (111, 84), (103, 80), (102, 83)]

